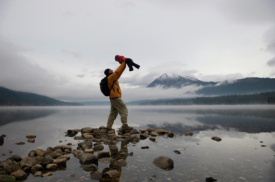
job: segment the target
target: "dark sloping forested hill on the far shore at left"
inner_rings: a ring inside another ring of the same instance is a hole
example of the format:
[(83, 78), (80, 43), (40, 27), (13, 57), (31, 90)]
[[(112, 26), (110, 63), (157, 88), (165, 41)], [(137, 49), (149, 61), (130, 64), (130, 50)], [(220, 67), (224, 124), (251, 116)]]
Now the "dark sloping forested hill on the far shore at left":
[(79, 103), (63, 102), (43, 95), (12, 91), (0, 87), (0, 105), (2, 106), (72, 106)]

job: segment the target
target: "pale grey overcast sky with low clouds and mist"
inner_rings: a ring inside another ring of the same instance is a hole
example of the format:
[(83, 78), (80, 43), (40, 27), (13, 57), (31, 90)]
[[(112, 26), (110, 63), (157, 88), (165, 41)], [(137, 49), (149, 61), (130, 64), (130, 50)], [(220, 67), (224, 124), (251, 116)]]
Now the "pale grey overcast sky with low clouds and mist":
[(141, 66), (119, 79), (126, 102), (195, 96), (195, 86), (146, 88), (163, 73), (274, 78), (275, 1), (0, 1), (0, 86), (105, 101), (99, 82), (117, 54)]

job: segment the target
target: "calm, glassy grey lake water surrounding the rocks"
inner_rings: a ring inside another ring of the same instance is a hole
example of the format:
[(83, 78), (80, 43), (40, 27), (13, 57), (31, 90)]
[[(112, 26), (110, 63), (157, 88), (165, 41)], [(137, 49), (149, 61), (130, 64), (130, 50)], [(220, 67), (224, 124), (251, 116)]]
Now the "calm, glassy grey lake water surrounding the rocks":
[[(119, 181), (151, 181), (153, 174), (157, 174), (154, 181), (205, 181), (206, 177), (218, 181), (275, 181), (275, 105), (128, 106), (128, 110), (129, 126), (137, 130), (162, 128), (175, 137), (158, 136), (156, 143), (149, 139), (129, 143), (123, 150), (134, 155), (127, 156)], [(0, 155), (0, 161), (69, 142), (76, 148), (79, 141), (65, 137), (64, 132), (106, 126), (109, 112), (109, 106), (0, 107), (0, 135), (7, 135), (0, 146), (0, 154), (5, 154)], [(120, 126), (118, 116), (113, 128)], [(186, 131), (193, 131), (193, 136), (185, 136)], [(27, 142), (29, 133), (36, 134), (35, 143)], [(222, 141), (211, 140), (213, 136)], [(26, 144), (15, 145), (18, 142)], [(121, 148), (120, 141), (116, 145)], [(108, 145), (103, 151), (110, 151)], [(152, 162), (158, 156), (173, 159), (174, 169), (156, 167)], [(66, 169), (52, 172), (52, 177), (30, 174), (25, 181), (93, 181), (90, 172), (79, 167), (79, 159), (72, 154), (70, 157)], [(108, 167), (99, 162), (97, 171)]]

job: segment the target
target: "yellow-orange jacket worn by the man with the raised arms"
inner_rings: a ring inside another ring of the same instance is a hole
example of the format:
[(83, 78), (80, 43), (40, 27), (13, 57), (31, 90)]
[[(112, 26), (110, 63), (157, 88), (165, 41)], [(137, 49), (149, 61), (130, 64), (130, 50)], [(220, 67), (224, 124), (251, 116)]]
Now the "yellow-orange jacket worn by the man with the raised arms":
[(116, 80), (115, 83), (114, 83), (114, 86), (113, 86), (113, 88), (110, 92), (110, 99), (114, 98), (114, 97), (121, 97), (121, 90), (120, 90), (120, 87), (119, 87), (118, 79), (121, 76), (121, 74), (123, 73), (123, 71), (125, 70), (125, 68), (126, 68), (126, 64), (125, 64), (125, 62), (123, 62), (116, 69), (116, 71), (107, 78), (109, 89), (111, 89), (112, 84)]

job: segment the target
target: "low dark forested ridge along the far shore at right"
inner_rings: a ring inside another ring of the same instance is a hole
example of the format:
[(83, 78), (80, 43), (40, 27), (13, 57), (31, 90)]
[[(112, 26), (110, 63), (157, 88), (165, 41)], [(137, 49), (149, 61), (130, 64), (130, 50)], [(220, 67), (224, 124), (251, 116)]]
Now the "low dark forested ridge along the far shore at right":
[(143, 102), (139, 105), (237, 105), (237, 104), (275, 104), (275, 91), (249, 95), (225, 95), (215, 97), (196, 97)]

